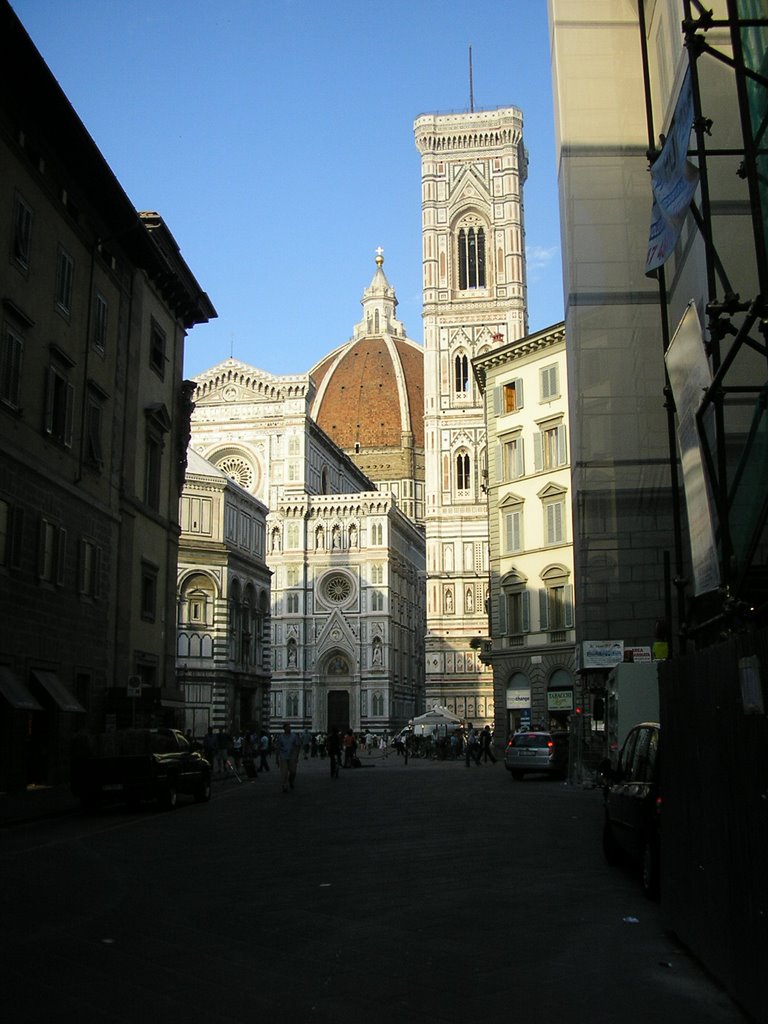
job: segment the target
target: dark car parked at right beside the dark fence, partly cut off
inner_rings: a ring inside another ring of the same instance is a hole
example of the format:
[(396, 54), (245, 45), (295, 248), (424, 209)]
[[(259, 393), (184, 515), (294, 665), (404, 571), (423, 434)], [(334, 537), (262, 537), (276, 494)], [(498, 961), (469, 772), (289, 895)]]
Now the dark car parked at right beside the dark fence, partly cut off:
[(630, 729), (615, 767), (600, 766), (603, 775), (603, 853), (610, 864), (629, 857), (640, 866), (643, 891), (658, 896), (659, 771), (662, 730), (657, 722)]

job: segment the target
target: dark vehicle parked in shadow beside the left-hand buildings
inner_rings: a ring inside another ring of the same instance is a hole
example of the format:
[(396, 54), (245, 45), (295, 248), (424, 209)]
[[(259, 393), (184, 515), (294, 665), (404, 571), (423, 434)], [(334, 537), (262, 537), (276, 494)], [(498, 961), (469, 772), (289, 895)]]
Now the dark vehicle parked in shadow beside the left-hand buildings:
[(72, 792), (86, 807), (103, 799), (138, 805), (157, 800), (171, 810), (178, 794), (211, 799), (211, 766), (176, 729), (123, 729), (76, 737)]

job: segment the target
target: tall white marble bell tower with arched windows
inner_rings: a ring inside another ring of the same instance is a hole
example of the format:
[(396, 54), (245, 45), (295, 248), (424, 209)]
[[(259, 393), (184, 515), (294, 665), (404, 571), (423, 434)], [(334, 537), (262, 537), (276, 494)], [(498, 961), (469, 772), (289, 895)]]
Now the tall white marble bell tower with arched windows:
[(424, 115), (426, 702), (475, 724), (494, 719), (488, 632), (487, 453), (472, 358), (527, 332), (522, 186), (527, 156), (516, 108)]

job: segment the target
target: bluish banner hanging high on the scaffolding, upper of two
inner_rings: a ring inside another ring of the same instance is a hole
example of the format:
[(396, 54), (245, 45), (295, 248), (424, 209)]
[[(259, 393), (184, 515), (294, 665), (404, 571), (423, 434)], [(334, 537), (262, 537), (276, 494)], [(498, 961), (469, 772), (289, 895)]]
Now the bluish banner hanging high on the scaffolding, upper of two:
[(692, 127), (693, 90), (688, 71), (680, 89), (670, 133), (650, 169), (653, 208), (645, 259), (646, 273), (651, 273), (669, 259), (698, 185), (698, 168), (688, 160)]

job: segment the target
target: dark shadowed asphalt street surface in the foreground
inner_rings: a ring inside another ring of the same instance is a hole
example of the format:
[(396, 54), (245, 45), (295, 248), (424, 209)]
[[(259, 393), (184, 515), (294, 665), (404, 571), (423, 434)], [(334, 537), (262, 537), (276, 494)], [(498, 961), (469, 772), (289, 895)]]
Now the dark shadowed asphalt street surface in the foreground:
[(362, 762), (4, 830), (4, 1019), (743, 1024), (603, 862), (597, 791)]

